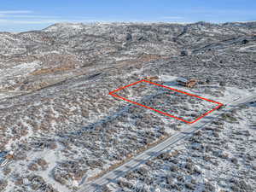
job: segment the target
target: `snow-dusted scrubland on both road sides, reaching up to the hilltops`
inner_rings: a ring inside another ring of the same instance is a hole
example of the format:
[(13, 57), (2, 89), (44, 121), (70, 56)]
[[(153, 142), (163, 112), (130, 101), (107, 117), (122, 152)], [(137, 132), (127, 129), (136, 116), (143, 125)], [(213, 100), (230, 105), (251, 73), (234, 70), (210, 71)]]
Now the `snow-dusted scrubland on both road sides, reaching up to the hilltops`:
[[(0, 166), (0, 191), (77, 191), (180, 130), (182, 121), (108, 94), (126, 84), (159, 76), (160, 84), (224, 104), (255, 94), (255, 32), (255, 22), (0, 32), (0, 163), (14, 152)], [(177, 77), (198, 84), (182, 87)], [(141, 85), (117, 94), (188, 119), (214, 108)], [(224, 114), (102, 191), (253, 191), (255, 113), (247, 103)]]

